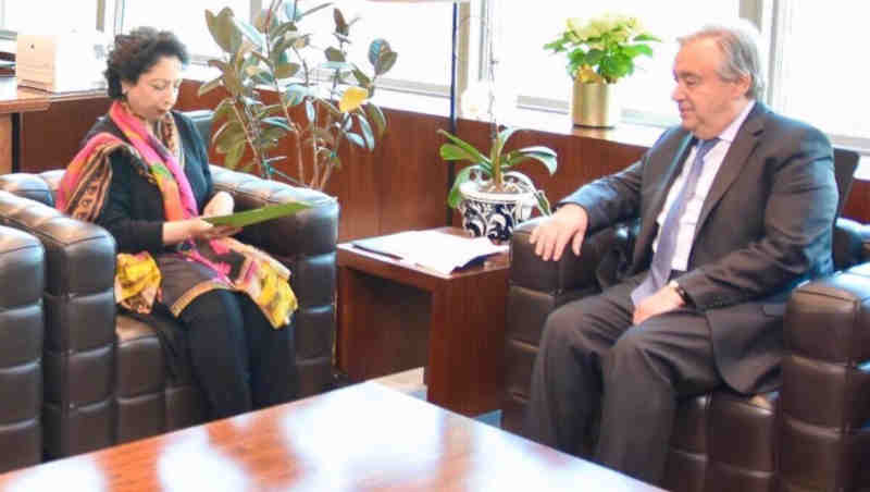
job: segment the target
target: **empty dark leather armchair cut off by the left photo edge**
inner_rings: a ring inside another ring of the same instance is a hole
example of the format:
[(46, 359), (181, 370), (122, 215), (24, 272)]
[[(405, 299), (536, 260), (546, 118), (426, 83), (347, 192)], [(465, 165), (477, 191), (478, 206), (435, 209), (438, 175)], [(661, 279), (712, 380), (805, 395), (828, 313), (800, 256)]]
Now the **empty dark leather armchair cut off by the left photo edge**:
[(42, 456), (45, 249), (0, 226), (0, 472)]

